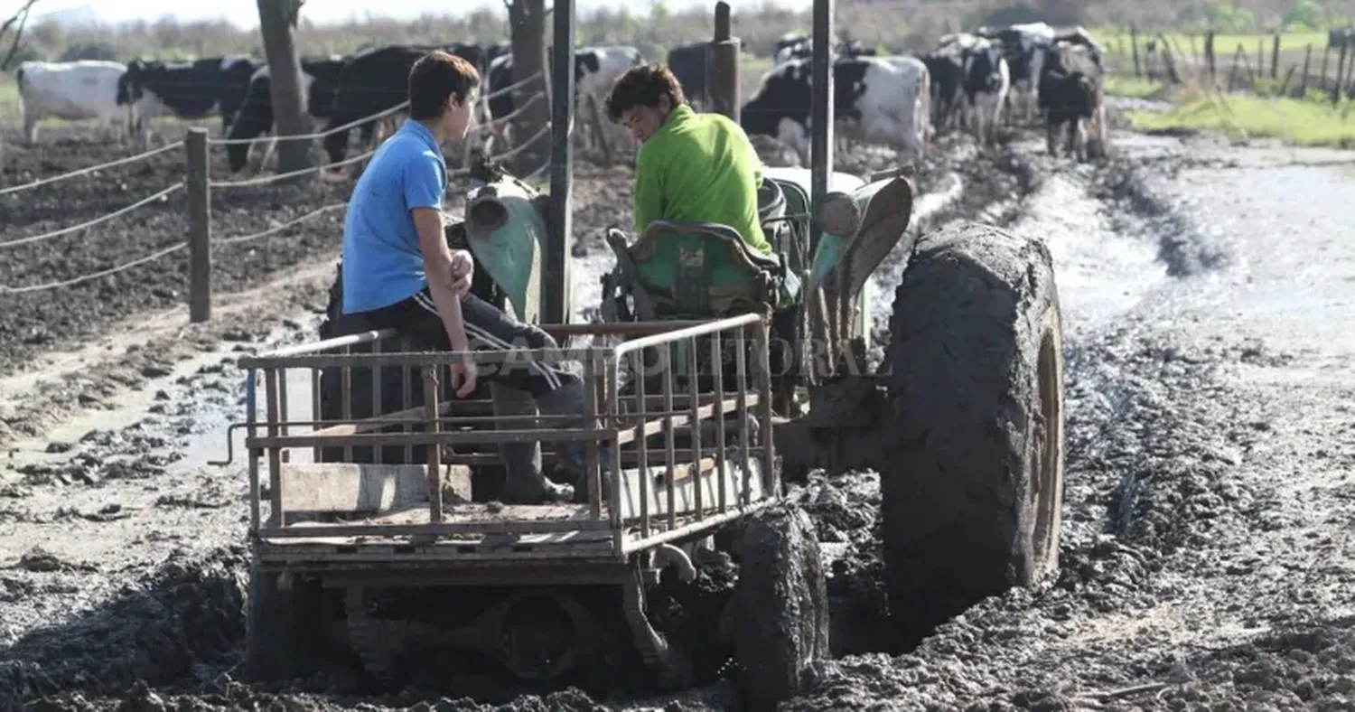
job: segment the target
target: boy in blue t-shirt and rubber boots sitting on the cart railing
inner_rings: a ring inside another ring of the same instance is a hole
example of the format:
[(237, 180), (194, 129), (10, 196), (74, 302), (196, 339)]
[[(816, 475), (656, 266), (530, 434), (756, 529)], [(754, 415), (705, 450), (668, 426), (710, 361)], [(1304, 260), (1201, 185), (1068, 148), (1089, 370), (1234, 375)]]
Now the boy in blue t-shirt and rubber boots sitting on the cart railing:
[[(462, 140), (480, 87), (466, 60), (432, 52), (409, 72), (409, 118), (373, 155), (348, 201), (343, 239), (343, 311), (374, 328), (394, 328), (425, 349), (470, 351), (514, 347), (551, 349), (554, 339), (519, 323), (470, 293), (474, 262), (451, 250), (443, 233), (442, 205), (447, 165), (442, 144)], [(500, 368), (486, 376), (533, 395), (545, 415), (569, 415), (581, 423), (583, 382), (550, 363)], [(453, 368), (453, 387), (465, 397), (476, 388), (469, 359)], [(573, 427), (579, 423), (560, 423)], [(569, 499), (570, 487), (542, 476), (526, 449), (507, 446), (505, 500)], [(583, 481), (584, 443), (560, 443), (573, 481)], [(579, 499), (585, 499), (581, 488)]]

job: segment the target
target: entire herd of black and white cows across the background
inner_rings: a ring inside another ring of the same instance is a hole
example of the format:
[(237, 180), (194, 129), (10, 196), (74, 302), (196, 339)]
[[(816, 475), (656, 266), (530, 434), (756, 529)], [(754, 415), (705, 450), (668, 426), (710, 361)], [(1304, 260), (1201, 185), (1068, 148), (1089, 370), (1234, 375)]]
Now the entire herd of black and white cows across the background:
[[(408, 76), (415, 60), (432, 49), (480, 68), (481, 92), (489, 100), (478, 107), (477, 119), (492, 125), (489, 136), (481, 138), (511, 142), (507, 127), (497, 126), (501, 121), (493, 121), (520, 108), (514, 94), (501, 92), (523, 79), (514, 72), (507, 42), (390, 45), (347, 57), (301, 60), (304, 108), (314, 127), (327, 133), (324, 149), (331, 161), (344, 160), (350, 138), (350, 132), (333, 129), (356, 126), (363, 144), (377, 141), (378, 125), (389, 126), (408, 98), (405, 83), (392, 79)], [(808, 37), (783, 37), (772, 68), (741, 107), (749, 136), (776, 138), (806, 164), (812, 54)], [(600, 107), (617, 77), (644, 61), (631, 46), (579, 47), (576, 99)], [(688, 96), (699, 100), (707, 94), (705, 42), (672, 49), (667, 64)], [(986, 144), (997, 126), (1016, 117), (1043, 117), (1051, 153), (1064, 127), (1069, 149), (1080, 157), (1104, 146), (1102, 49), (1080, 27), (1065, 34), (1045, 23), (982, 27), (944, 35), (934, 50), (917, 56), (877, 56), (856, 42), (840, 42), (833, 47), (832, 66), (837, 133), (892, 146), (904, 161), (919, 159), (936, 133), (965, 129)], [(222, 136), (230, 140), (228, 163), (236, 172), (245, 168), (251, 145), (274, 123), (268, 66), (251, 57), (133, 60), (126, 65), (30, 61), (19, 66), (16, 81), (28, 142), (37, 140), (38, 121), (46, 117), (96, 118), (104, 129), (123, 123), (146, 141), (150, 119), (157, 117), (220, 114)], [(382, 121), (373, 118), (377, 115)], [(1093, 141), (1087, 136), (1089, 127), (1096, 132)]]

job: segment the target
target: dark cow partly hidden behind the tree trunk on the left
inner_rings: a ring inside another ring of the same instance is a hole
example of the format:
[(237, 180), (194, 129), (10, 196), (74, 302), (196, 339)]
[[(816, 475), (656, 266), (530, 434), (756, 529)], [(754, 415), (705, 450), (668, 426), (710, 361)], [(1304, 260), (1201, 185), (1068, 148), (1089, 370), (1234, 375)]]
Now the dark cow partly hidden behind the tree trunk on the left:
[[(304, 110), (318, 126), (329, 118), (335, 103), (335, 90), (339, 87), (339, 71), (343, 69), (343, 57), (332, 56), (325, 58), (308, 58), (301, 61), (301, 95), (305, 100)], [(272, 77), (268, 66), (259, 68), (249, 80), (249, 91), (240, 104), (236, 121), (230, 123), (226, 134), (233, 141), (257, 138), (272, 130)], [(274, 141), (268, 141), (264, 157), (272, 152)], [(249, 144), (228, 144), (226, 160), (230, 171), (244, 170), (249, 157)]]

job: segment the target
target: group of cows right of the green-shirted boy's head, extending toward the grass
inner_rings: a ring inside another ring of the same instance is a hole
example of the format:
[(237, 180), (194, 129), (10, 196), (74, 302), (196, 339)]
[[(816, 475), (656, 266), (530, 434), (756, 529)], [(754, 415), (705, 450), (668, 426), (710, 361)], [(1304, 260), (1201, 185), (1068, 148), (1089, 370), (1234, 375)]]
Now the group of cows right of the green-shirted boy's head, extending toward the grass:
[[(706, 43), (675, 47), (668, 65), (688, 96), (706, 95)], [(772, 137), (809, 161), (810, 58), (804, 35), (776, 42), (772, 68), (741, 107), (744, 130)], [(951, 34), (917, 56), (878, 56), (858, 42), (833, 50), (833, 114), (844, 138), (894, 148), (916, 160), (936, 133), (963, 127), (980, 144), (1018, 117), (1041, 117), (1056, 152), (1066, 127), (1079, 156), (1104, 146), (1103, 50), (1081, 27), (1056, 33), (1049, 24), (982, 27)], [(1088, 141), (1087, 132), (1096, 132)]]

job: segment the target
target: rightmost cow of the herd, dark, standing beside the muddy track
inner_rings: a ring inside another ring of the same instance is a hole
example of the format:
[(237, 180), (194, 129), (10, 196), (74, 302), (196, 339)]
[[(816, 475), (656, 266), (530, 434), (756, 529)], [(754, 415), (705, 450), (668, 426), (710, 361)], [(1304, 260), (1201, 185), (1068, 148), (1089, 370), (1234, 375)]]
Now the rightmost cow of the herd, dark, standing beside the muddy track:
[[(1102, 155), (1106, 149), (1106, 106), (1102, 66), (1093, 50), (1084, 45), (1058, 42), (1047, 47), (1043, 72), (1039, 76), (1039, 108), (1045, 113), (1049, 153), (1057, 155), (1058, 132), (1068, 126), (1069, 153), (1085, 160), (1088, 153)], [(1095, 141), (1088, 145), (1091, 125)]]

